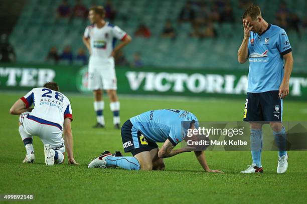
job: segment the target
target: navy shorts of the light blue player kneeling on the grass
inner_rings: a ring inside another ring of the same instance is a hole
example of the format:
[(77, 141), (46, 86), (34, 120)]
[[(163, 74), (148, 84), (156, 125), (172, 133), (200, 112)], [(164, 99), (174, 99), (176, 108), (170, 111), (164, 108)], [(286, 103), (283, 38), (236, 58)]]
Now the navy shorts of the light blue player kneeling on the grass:
[(121, 139), (125, 152), (131, 152), (133, 156), (143, 151), (158, 148), (158, 144), (146, 139), (129, 119), (121, 127)]

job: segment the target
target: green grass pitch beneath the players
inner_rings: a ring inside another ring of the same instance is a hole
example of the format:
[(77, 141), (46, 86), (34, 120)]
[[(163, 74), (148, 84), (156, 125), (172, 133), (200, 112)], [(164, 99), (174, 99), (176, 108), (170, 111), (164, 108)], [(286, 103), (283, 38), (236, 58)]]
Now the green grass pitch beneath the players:
[[(23, 164), (25, 148), (18, 132), (18, 116), (9, 108), (24, 93), (0, 93), (0, 193), (34, 194), (30, 203), (305, 203), (307, 170), (305, 151), (289, 152), (286, 173), (277, 174), (277, 152), (265, 151), (263, 174), (241, 174), (251, 162), (248, 151), (208, 151), (209, 166), (224, 174), (206, 173), (194, 153), (166, 158), (164, 171), (88, 169), (87, 164), (104, 149), (123, 151), (120, 131), (113, 129), (106, 100), (105, 129), (93, 129), (95, 113), (90, 96), (67, 94), (74, 121), (74, 155), (80, 166), (46, 167), (43, 144), (34, 137), (36, 162)], [(180, 108), (200, 121), (241, 120), (243, 99), (185, 99), (122, 96), (121, 120), (149, 109)], [(306, 120), (306, 102), (284, 100), (284, 120)], [(271, 136), (271, 135), (264, 135)], [(125, 155), (130, 155), (126, 154)], [(12, 202), (9, 202), (12, 203)]]

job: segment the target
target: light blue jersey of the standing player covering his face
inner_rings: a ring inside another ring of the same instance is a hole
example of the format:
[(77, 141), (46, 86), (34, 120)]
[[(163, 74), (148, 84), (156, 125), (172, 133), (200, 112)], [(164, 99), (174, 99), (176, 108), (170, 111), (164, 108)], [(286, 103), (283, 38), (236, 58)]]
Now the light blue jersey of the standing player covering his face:
[(283, 77), (283, 55), (292, 51), (284, 29), (269, 24), (262, 33), (250, 32), (247, 92), (278, 90)]

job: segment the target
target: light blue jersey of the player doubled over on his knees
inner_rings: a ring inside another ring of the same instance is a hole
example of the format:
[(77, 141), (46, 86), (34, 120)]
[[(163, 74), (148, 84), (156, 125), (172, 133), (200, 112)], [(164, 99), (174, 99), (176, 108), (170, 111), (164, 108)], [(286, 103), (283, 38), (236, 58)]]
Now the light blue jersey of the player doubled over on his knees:
[(169, 139), (173, 145), (181, 142), (190, 128), (191, 122), (195, 120), (198, 128), (197, 117), (188, 111), (177, 109), (149, 110), (130, 118), (133, 126), (146, 137), (154, 142), (165, 142)]

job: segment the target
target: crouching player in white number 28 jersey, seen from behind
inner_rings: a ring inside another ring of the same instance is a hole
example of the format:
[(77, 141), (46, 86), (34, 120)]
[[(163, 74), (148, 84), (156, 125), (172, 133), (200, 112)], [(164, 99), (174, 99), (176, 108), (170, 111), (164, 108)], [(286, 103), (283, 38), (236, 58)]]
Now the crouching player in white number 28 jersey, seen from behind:
[[(34, 104), (34, 107), (31, 107)], [(56, 82), (33, 88), (18, 99), (10, 109), (11, 114), (20, 114), (19, 132), (26, 147), (24, 163), (35, 160), (33, 135), (44, 143), (45, 163), (63, 163), (65, 146), (69, 164), (79, 164), (74, 159), (71, 130), (72, 110), (69, 99), (59, 91)], [(64, 130), (63, 130), (64, 127)], [(62, 133), (64, 131), (64, 138)], [(65, 143), (65, 144), (64, 144)]]

